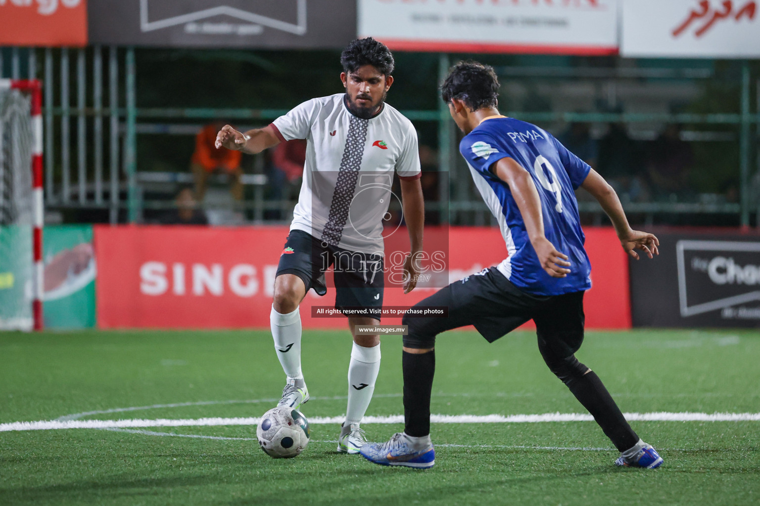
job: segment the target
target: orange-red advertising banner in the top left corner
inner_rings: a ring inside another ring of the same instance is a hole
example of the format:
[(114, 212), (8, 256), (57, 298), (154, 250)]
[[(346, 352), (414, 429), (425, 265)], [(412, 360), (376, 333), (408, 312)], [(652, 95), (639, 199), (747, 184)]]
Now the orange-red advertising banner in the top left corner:
[(87, 0), (0, 0), (0, 46), (87, 46)]

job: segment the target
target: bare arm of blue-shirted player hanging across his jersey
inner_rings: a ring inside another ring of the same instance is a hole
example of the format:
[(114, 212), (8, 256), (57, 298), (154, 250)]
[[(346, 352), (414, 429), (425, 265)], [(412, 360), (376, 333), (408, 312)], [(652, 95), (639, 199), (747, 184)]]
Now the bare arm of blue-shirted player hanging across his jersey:
[(543, 233), (541, 198), (538, 196), (533, 177), (511, 158), (500, 159), (491, 165), (491, 171), (509, 185), (509, 191), (523, 217), (530, 244), (536, 250), (543, 270), (553, 278), (567, 277), (570, 272), (570, 269), (566, 269), (570, 266), (567, 255), (559, 253)]

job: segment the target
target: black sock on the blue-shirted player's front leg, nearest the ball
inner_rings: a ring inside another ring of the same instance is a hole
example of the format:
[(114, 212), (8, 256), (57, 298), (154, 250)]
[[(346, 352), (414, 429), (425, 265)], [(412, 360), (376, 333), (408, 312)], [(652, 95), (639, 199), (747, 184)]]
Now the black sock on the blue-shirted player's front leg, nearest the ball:
[(430, 392), (435, 374), (435, 350), (424, 354), (403, 353), (404, 432), (420, 438), (430, 434)]

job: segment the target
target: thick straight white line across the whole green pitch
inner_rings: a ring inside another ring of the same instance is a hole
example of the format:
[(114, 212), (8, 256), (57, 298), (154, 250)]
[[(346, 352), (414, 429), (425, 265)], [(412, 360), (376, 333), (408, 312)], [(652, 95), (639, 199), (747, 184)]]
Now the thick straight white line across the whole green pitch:
[[(630, 421), (646, 422), (739, 422), (760, 421), (760, 413), (624, 413)], [(38, 422), (0, 423), (0, 432), (52, 429), (120, 429), (140, 427), (192, 426), (252, 426), (259, 418), (198, 418), (156, 420), (40, 420)], [(542, 423), (590, 422), (594, 418), (584, 413), (543, 413), (530, 415), (432, 415), (432, 423)], [(313, 416), (309, 423), (341, 423), (344, 416)], [(403, 415), (365, 416), (363, 423), (404, 423)]]

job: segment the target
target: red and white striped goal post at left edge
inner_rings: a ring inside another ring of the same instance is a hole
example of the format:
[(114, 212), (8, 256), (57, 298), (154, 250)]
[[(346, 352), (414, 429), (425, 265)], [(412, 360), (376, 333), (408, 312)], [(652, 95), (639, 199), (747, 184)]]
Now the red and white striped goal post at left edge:
[(31, 97), (32, 124), (32, 198), (34, 230), (33, 230), (33, 300), (32, 314), (34, 330), (43, 328), (43, 98), (42, 83), (36, 79), (0, 79), (0, 90), (21, 90)]

